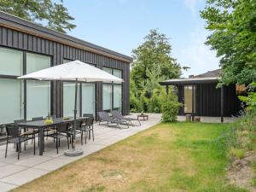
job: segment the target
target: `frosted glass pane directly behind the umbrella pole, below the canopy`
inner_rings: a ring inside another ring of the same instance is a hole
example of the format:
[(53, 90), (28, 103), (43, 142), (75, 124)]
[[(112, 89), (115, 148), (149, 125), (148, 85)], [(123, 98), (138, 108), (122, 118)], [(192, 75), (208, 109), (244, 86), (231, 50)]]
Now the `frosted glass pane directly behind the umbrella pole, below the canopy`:
[[(75, 84), (73, 82), (63, 83), (63, 115), (73, 116), (75, 102)], [(79, 86), (78, 86), (78, 102), (77, 110), (79, 114)]]

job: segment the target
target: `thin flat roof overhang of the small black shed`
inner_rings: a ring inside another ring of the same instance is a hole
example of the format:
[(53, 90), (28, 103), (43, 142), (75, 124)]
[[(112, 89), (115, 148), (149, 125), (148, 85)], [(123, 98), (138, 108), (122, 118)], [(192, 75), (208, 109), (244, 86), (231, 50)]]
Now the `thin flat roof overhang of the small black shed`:
[(218, 83), (218, 77), (207, 78), (189, 78), (189, 79), (170, 79), (160, 82), (161, 85), (177, 85), (177, 84), (210, 84)]

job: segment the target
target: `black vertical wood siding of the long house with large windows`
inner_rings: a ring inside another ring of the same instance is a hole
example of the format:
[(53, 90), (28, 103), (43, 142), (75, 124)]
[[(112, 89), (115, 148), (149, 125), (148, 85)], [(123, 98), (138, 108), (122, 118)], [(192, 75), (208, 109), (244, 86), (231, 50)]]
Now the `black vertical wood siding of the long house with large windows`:
[[(20, 49), (32, 53), (51, 56), (52, 66), (59, 65), (63, 59), (80, 60), (96, 67), (112, 67), (123, 72), (123, 102), (122, 110), (124, 114), (130, 113), (130, 65), (125, 61), (119, 61), (104, 55), (97, 55), (84, 49), (74, 48), (66, 44), (57, 43), (48, 39), (39, 38), (25, 32), (18, 32), (7, 27), (0, 26), (0, 46), (13, 49)], [(51, 84), (52, 112), (57, 116), (63, 114), (62, 83), (53, 82)], [(102, 83), (96, 83), (96, 112), (102, 111)]]

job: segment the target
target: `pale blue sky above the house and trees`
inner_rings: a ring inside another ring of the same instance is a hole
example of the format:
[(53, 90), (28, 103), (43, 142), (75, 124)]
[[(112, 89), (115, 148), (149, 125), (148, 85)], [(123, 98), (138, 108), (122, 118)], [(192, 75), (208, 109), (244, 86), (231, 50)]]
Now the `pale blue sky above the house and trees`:
[(206, 0), (64, 0), (77, 25), (72, 32), (92, 44), (131, 56), (150, 29), (172, 44), (172, 57), (191, 67), (183, 77), (218, 68), (216, 53), (204, 44), (209, 32), (199, 11)]

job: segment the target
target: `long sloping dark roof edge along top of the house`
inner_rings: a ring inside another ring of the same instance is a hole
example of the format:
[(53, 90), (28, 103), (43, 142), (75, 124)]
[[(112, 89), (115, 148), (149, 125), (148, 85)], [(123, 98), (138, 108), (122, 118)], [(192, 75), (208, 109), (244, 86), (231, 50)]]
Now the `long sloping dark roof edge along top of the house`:
[(114, 59), (120, 61), (131, 63), (133, 60), (131, 56), (120, 54), (118, 52), (103, 48), (96, 44), (91, 44), (82, 39), (74, 38), (65, 33), (56, 32), (55, 30), (51, 30), (47, 27), (40, 26), (37, 23), (33, 23), (28, 20), (23, 20), (15, 15), (9, 15), (7, 13), (4, 13), (3, 11), (0, 11), (0, 26), (12, 28), (20, 32), (26, 32), (28, 34), (32, 34), (34, 36), (38, 36), (41, 38), (48, 38), (51, 41), (59, 42), (61, 44), (68, 44), (79, 49), (81, 49), (81, 47), (84, 47), (84, 49), (87, 49), (90, 52), (95, 52), (99, 55), (114, 57)]

